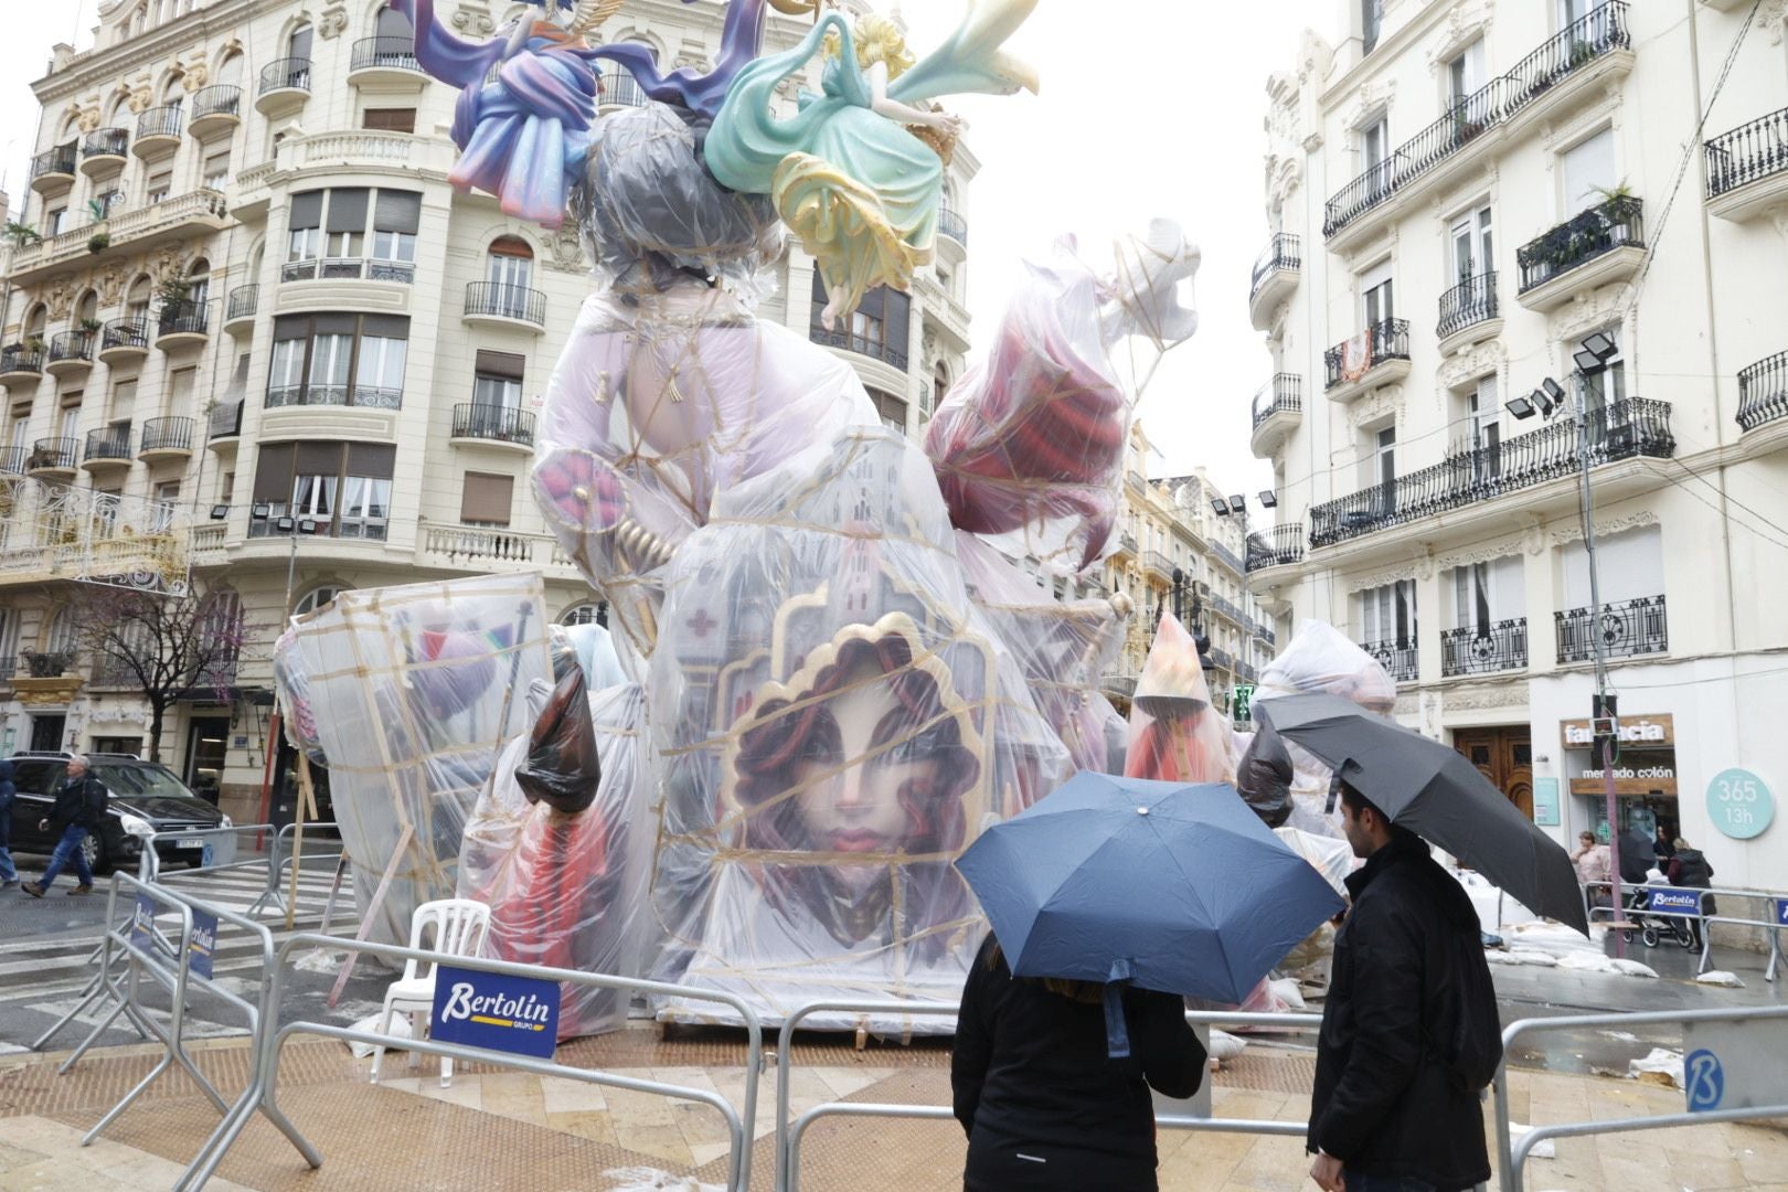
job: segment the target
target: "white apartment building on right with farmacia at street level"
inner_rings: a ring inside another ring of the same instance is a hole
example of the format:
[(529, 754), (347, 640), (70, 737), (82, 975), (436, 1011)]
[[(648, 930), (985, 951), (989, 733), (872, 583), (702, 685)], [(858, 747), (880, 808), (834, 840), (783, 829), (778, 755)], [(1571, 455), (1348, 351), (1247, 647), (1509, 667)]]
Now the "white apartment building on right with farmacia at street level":
[(1781, 888), (1783, 2), (1337, 11), (1268, 80), (1253, 452), (1284, 518), (1250, 588), (1345, 627), (1561, 840), (1606, 826), (1600, 640), (1622, 818)]

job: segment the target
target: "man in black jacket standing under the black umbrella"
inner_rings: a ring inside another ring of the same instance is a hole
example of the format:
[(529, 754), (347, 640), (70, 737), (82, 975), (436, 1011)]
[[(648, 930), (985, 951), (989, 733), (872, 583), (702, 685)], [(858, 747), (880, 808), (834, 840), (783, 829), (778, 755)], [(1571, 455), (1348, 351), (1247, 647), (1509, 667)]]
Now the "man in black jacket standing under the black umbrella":
[(1463, 992), (1488, 988), (1472, 985), (1489, 981), (1477, 911), (1420, 836), (1345, 783), (1341, 820), (1366, 865), (1346, 879), (1316, 1045), (1311, 1178), (1328, 1192), (1472, 1188), (1489, 1179), (1479, 1090), (1436, 1040), (1455, 1038)]

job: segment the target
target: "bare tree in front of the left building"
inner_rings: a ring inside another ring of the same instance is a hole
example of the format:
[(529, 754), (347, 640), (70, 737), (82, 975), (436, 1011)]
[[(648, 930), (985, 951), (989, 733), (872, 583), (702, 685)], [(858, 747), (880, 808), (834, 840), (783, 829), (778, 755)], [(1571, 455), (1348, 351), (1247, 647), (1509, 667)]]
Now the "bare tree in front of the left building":
[(161, 761), (168, 708), (195, 693), (229, 697), (249, 636), (229, 590), (170, 597), (97, 586), (82, 592), (75, 618), (95, 679), (132, 686), (148, 704), (150, 761)]

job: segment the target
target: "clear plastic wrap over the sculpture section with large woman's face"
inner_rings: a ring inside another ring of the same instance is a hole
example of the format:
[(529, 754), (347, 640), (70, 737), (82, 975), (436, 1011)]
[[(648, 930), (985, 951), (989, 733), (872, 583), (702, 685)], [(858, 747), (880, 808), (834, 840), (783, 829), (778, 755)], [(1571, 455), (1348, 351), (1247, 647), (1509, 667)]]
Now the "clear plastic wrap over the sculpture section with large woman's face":
[[(985, 928), (951, 861), (1071, 763), (971, 608), (912, 445), (855, 429), (819, 466), (722, 493), (670, 561), (647, 695), (656, 978), (767, 1022), (824, 997), (957, 995)], [(912, 1028), (949, 1024), (873, 1029)]]

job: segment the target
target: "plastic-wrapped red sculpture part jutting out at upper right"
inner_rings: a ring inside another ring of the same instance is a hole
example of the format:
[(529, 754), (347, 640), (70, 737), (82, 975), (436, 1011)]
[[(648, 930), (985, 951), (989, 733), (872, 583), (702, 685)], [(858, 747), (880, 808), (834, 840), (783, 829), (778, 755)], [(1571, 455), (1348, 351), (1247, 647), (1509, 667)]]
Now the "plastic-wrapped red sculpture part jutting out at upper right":
[(1198, 248), (1155, 220), (1146, 238), (1119, 241), (1105, 277), (1073, 256), (1071, 239), (1026, 268), (992, 350), (937, 407), (924, 449), (958, 527), (1075, 574), (1110, 545), (1130, 409), (1153, 372), (1139, 374), (1130, 356), (1119, 368), (1112, 350), (1143, 340), (1159, 363), (1196, 331), (1178, 290), (1198, 270)]

